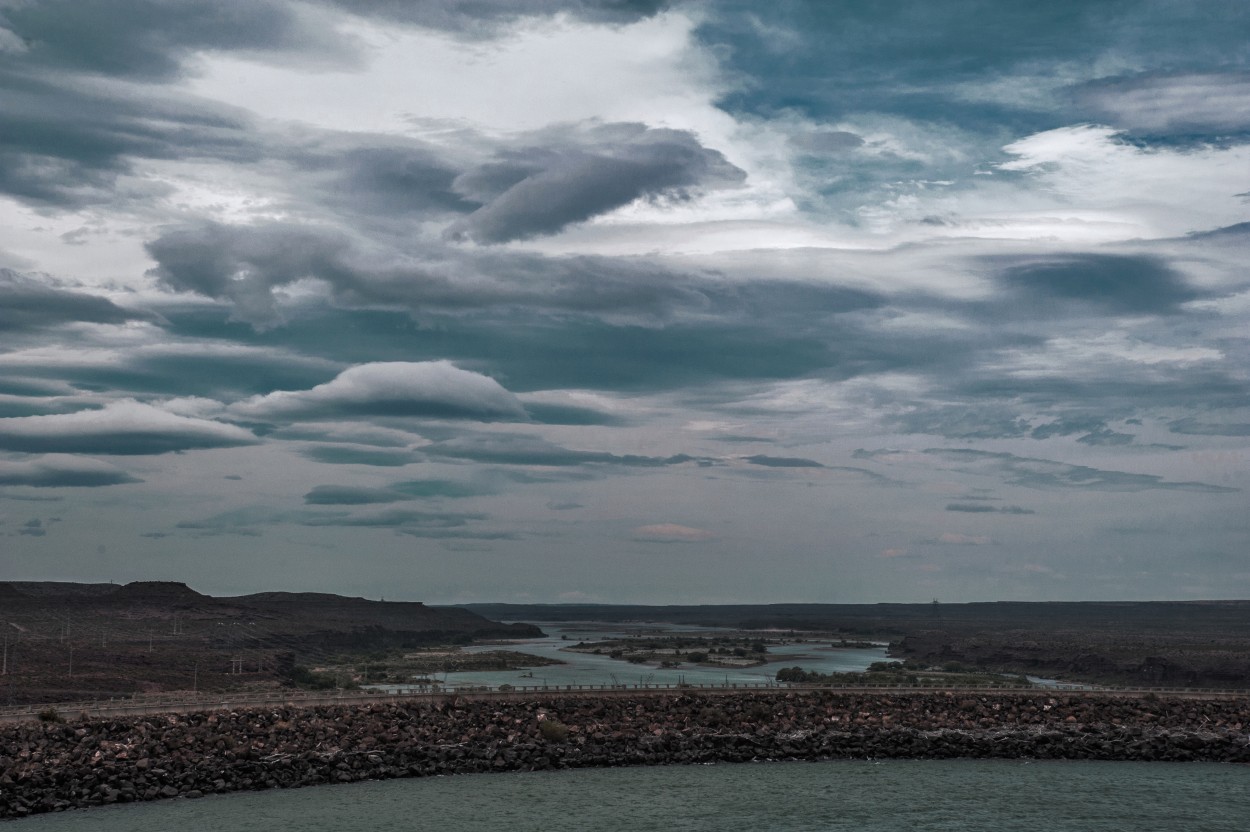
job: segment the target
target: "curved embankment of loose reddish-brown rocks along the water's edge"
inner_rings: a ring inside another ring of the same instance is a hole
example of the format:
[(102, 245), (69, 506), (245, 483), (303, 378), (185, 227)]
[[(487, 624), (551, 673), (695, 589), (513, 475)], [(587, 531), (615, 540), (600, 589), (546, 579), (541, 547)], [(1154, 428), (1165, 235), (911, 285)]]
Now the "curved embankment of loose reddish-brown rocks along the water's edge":
[(1250, 762), (1250, 698), (1045, 693), (414, 700), (0, 730), (0, 817), (390, 777), (751, 760)]

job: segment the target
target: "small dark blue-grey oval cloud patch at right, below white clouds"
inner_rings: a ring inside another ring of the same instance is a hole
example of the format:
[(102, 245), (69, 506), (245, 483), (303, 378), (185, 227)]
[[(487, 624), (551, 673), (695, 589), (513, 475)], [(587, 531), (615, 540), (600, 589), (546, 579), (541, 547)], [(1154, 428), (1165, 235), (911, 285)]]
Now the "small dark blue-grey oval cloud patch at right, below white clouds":
[(1149, 255), (1068, 254), (998, 259), (1000, 286), (1020, 296), (1031, 315), (1088, 307), (1108, 315), (1175, 314), (1201, 295), (1166, 261)]

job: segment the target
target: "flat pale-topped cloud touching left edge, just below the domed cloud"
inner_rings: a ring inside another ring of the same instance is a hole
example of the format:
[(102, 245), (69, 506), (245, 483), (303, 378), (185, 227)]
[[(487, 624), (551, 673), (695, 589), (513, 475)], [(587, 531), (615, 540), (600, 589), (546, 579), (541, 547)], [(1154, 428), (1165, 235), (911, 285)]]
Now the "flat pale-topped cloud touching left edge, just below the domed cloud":
[(178, 416), (134, 400), (100, 410), (0, 418), (0, 450), (25, 453), (169, 453), (256, 445), (250, 431)]

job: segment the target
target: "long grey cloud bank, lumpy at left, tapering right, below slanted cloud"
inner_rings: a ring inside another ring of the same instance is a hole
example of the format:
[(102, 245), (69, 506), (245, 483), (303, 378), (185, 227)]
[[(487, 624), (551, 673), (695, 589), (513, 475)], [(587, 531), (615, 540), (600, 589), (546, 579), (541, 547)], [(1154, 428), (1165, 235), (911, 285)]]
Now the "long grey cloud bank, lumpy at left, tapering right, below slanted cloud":
[(312, 277), (352, 305), (412, 310), (535, 306), (628, 315), (706, 305), (690, 280), (642, 261), (535, 255), (472, 255), (448, 247), (421, 257), (392, 251), (382, 260), (324, 226), (202, 222), (148, 244), (165, 286), (229, 300), (256, 324), (278, 320), (274, 290)]

